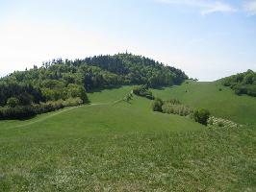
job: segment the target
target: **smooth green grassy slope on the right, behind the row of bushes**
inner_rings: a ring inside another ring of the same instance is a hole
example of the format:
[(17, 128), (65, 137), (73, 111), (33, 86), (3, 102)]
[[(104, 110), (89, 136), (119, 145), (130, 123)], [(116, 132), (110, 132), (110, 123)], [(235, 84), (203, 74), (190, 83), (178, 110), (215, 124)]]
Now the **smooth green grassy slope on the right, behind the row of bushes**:
[[(219, 91), (219, 88), (222, 88), (222, 91)], [(218, 117), (241, 124), (256, 125), (256, 98), (237, 96), (229, 87), (224, 87), (218, 82), (190, 82), (153, 92), (163, 99), (177, 98), (192, 108), (208, 108)]]

